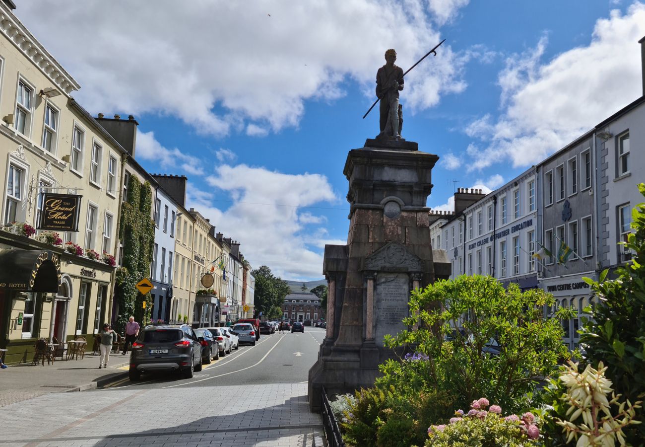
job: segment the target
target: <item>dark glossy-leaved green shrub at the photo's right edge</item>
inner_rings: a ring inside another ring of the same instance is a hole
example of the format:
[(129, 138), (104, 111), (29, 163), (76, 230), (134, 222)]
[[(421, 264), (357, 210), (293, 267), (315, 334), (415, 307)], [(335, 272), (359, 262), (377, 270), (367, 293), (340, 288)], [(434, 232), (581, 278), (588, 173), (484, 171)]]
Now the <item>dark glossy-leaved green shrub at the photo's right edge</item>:
[[(645, 196), (645, 184), (638, 187)], [(584, 278), (600, 302), (591, 307), (580, 342), (584, 361), (604, 362), (616, 393), (635, 402), (645, 396), (645, 203), (636, 205), (631, 216), (634, 233), (624, 244), (635, 253), (631, 262), (615, 271), (614, 280), (606, 280), (607, 271), (599, 282)], [(643, 410), (637, 410), (635, 420), (644, 419)], [(645, 424), (630, 426), (624, 433), (628, 443), (642, 445)]]

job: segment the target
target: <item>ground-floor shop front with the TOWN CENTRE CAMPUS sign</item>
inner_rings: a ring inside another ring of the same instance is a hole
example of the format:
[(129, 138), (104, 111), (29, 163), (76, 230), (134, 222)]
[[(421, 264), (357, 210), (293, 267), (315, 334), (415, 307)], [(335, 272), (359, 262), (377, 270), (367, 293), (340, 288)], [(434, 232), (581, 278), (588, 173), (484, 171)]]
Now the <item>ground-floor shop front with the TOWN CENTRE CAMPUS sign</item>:
[(584, 277), (598, 280), (598, 274), (595, 271), (540, 280), (540, 287), (555, 298), (555, 306), (545, 309), (547, 317), (553, 315), (559, 307), (571, 307), (577, 312), (577, 317), (562, 320), (562, 329), (564, 329), (562, 341), (571, 350), (578, 347), (580, 337), (578, 331), (582, 325), (582, 318), (589, 317), (584, 309), (596, 299), (589, 284), (582, 280)]

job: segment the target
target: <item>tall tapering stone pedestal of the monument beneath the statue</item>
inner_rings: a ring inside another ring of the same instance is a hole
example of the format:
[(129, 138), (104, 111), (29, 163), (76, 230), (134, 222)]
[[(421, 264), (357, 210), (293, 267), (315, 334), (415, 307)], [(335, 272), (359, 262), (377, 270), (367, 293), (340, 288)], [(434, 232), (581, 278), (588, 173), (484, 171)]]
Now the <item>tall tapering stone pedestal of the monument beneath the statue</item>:
[[(347, 156), (350, 229), (346, 245), (325, 246), (327, 333), (309, 370), (312, 411), (323, 386), (330, 396), (373, 386), (378, 365), (402, 354), (383, 337), (406, 329), (410, 291), (436, 278), (426, 199), (437, 160), (402, 139), (367, 140)], [(438, 271), (446, 267), (450, 275), (449, 264)]]

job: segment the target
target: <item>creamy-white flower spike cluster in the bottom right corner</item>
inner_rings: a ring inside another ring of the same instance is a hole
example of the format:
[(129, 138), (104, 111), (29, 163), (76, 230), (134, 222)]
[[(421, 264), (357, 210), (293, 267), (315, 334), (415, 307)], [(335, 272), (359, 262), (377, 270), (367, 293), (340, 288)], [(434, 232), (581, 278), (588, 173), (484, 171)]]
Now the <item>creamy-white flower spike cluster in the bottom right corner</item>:
[[(621, 446), (625, 445), (622, 429), (630, 424), (640, 424), (634, 421), (635, 409), (640, 408), (641, 401), (631, 404), (629, 400), (622, 402), (618, 414), (611, 415), (611, 406), (618, 406), (620, 395), (611, 393), (611, 400), (606, 398), (611, 390), (611, 380), (604, 376), (606, 367), (599, 363), (598, 369), (591, 365), (578, 372), (578, 364), (569, 362), (565, 373), (560, 376), (567, 391), (562, 395), (569, 406), (566, 415), (568, 421), (557, 420), (562, 430), (568, 434), (567, 442), (578, 439), (577, 446), (604, 447), (613, 446), (618, 439)], [(627, 404), (627, 406), (625, 406)], [(582, 422), (575, 422), (582, 416)], [(575, 422), (575, 423), (574, 423)]]

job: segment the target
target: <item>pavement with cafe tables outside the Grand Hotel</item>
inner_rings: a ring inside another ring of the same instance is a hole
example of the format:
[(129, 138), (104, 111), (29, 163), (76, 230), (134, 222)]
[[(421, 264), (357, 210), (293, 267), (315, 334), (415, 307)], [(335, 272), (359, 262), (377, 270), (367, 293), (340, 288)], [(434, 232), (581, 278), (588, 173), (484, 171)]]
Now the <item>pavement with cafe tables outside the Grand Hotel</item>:
[(48, 393), (83, 391), (127, 377), (119, 368), (128, 365), (128, 355), (112, 354), (107, 369), (99, 368), (99, 355), (86, 353), (83, 360), (60, 360), (54, 364), (12, 364), (0, 369), (0, 407)]

